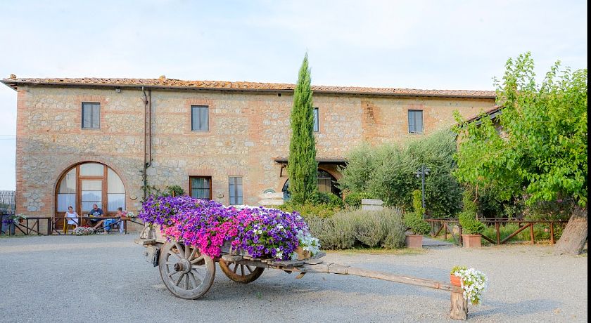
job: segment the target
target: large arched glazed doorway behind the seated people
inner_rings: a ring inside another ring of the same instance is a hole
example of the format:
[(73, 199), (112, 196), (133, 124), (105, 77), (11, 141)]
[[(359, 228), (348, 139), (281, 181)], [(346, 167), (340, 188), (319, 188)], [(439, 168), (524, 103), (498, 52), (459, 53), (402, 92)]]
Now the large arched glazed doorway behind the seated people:
[(97, 204), (107, 214), (117, 208), (125, 210), (125, 186), (109, 166), (96, 162), (77, 164), (58, 181), (56, 187), (56, 213), (65, 213), (72, 206), (84, 216)]

